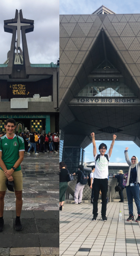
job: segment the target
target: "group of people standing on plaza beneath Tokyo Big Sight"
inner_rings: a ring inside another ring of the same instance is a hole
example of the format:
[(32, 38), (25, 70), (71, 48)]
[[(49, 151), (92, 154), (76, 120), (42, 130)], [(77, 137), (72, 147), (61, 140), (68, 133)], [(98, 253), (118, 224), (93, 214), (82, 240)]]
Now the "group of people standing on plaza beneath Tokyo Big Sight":
[[(108, 153), (107, 146), (104, 143), (101, 143), (99, 146), (99, 152), (100, 154), (97, 154), (96, 150), (96, 143), (95, 143), (95, 134), (92, 133), (92, 143), (93, 143), (93, 157), (95, 160), (95, 165), (92, 166), (92, 172), (88, 176), (89, 179), (89, 187), (91, 188), (91, 203), (93, 204), (93, 221), (97, 220), (98, 216), (98, 199), (99, 194), (101, 194), (102, 198), (102, 209), (101, 209), (101, 215), (102, 220), (104, 222), (107, 221), (106, 217), (106, 209), (107, 209), (107, 191), (108, 191), (108, 162), (110, 160), (113, 146), (115, 143), (116, 135), (113, 135), (113, 141), (111, 143), (110, 149)], [(129, 171), (128, 173), (123, 173), (122, 170), (119, 170), (118, 175), (114, 175), (114, 178), (118, 180), (118, 186), (119, 186), (119, 196), (120, 201), (124, 202), (123, 197), (123, 190), (126, 187), (126, 194), (128, 199), (128, 208), (129, 208), (129, 217), (127, 221), (134, 220), (133, 215), (133, 198), (136, 203), (137, 207), (137, 213), (138, 217), (136, 219), (136, 222), (140, 222), (140, 162), (138, 161), (136, 156), (132, 156), (131, 160), (129, 160), (128, 156), (128, 147), (125, 148), (125, 159), (126, 162), (129, 165)], [(60, 162), (60, 211), (62, 211), (63, 204), (65, 201), (65, 192), (67, 190), (67, 175), (69, 174), (69, 171), (67, 170), (67, 166), (65, 162)], [(79, 165), (78, 170), (73, 173), (73, 175), (77, 175), (77, 184), (75, 186), (75, 192), (74, 192), (74, 202), (72, 204), (81, 204), (82, 203), (82, 192), (84, 189), (84, 183), (81, 182), (81, 177), (84, 173), (84, 166)], [(83, 177), (85, 178), (86, 175)], [(88, 181), (88, 180), (87, 180)]]

